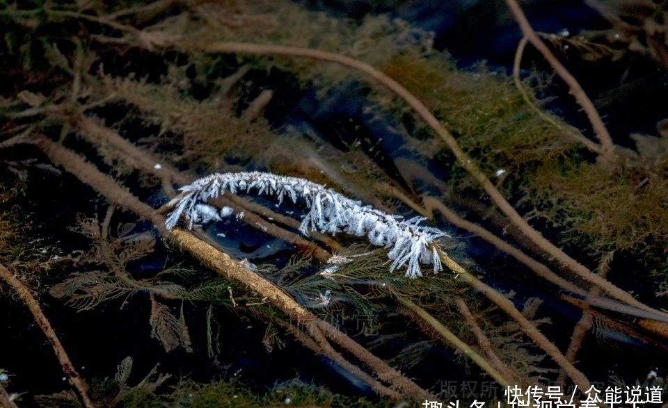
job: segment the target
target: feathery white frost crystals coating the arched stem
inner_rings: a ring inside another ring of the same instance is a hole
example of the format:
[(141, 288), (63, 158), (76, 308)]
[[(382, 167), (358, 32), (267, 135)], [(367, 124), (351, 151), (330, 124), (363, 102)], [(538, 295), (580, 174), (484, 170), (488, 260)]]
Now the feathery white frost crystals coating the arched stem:
[(371, 206), (362, 206), (361, 202), (353, 201), (331, 188), (297, 177), (262, 172), (211, 174), (182, 187), (182, 193), (169, 202), (168, 206), (173, 211), (168, 215), (166, 227), (171, 230), (181, 215), (189, 221), (189, 228), (193, 222), (221, 220), (221, 215), (230, 215), (229, 212), (223, 209), (219, 214), (213, 206), (205, 204), (207, 199), (218, 197), (225, 190), (237, 193), (237, 190), (250, 191), (252, 188), (258, 190), (257, 195), (277, 195), (279, 203), (283, 202), (285, 195), (293, 202), (297, 201), (297, 197), (303, 197), (310, 209), (299, 227), (305, 235), (308, 235), (308, 228), (331, 234), (346, 231), (348, 234), (367, 236), (374, 245), (392, 247), (388, 253), (393, 260), (390, 272), (406, 263), (406, 277), (411, 278), (422, 276), (420, 263), (434, 264), (434, 272), (443, 269), (434, 239), (447, 234), (436, 228), (418, 225), (424, 218), (404, 221)]

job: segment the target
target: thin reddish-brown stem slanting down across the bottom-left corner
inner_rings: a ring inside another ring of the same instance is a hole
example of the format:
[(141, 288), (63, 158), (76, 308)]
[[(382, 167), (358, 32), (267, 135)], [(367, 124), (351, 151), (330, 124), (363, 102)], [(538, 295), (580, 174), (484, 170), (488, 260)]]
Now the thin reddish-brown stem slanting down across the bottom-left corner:
[(44, 312), (42, 312), (40, 304), (37, 302), (37, 300), (35, 300), (35, 297), (31, 295), (28, 288), (22, 284), (21, 280), (15, 277), (12, 272), (10, 272), (2, 264), (0, 264), (0, 277), (14, 289), (21, 300), (23, 300), (23, 302), (26, 304), (28, 309), (30, 309), (30, 312), (33, 313), (35, 322), (40, 327), (40, 329), (42, 329), (42, 332), (44, 332), (45, 336), (47, 336), (49, 339), (51, 347), (54, 348), (54, 352), (56, 353), (56, 357), (58, 357), (58, 361), (63, 367), (63, 373), (65, 373), (67, 381), (70, 382), (70, 384), (74, 387), (74, 390), (77, 391), (77, 396), (79, 397), (79, 400), (81, 400), (81, 403), (84, 405), (84, 407), (92, 408), (93, 403), (90, 402), (90, 398), (88, 398), (88, 393), (86, 391), (88, 386), (74, 368), (72, 361), (70, 361), (70, 357), (68, 357), (67, 352), (65, 352), (65, 348), (63, 348), (61, 341), (58, 340), (56, 332), (54, 331), (53, 327), (51, 327), (51, 323), (49, 323), (47, 316), (45, 316)]

